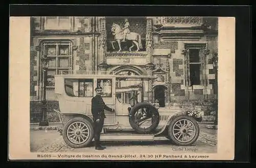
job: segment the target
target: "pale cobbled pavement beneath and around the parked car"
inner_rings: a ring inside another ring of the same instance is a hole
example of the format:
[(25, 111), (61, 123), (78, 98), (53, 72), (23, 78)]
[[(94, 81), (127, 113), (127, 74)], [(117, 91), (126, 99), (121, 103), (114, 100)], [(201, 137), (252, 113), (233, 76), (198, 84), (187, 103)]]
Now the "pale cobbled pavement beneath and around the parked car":
[[(198, 140), (193, 146), (180, 148), (173, 145), (165, 137), (157, 137), (154, 141), (132, 142), (132, 141), (105, 141), (103, 145), (107, 147), (108, 152), (130, 152), (139, 151), (154, 153), (158, 152), (195, 152), (196, 153), (216, 153), (217, 152), (217, 129), (207, 129), (207, 123), (200, 123), (200, 134)], [(31, 128), (30, 130), (30, 147), (31, 152), (95, 152), (93, 143), (89, 147), (74, 149), (69, 147), (62, 136), (56, 130), (57, 126), (50, 126), (51, 129), (41, 127)], [(96, 151), (102, 152), (102, 151)]]

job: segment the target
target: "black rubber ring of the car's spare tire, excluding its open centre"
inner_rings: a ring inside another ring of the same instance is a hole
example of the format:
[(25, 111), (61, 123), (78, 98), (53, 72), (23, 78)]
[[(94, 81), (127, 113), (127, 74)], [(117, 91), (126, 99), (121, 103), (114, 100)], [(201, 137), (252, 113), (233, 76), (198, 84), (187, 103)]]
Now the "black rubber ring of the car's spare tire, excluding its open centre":
[[(153, 115), (152, 123), (151, 123), (150, 127), (141, 128), (136, 123), (135, 114), (141, 108), (146, 108), (146, 110), (148, 110), (147, 114), (150, 116)], [(138, 133), (141, 133), (141, 134), (151, 133), (153, 130), (155, 130), (157, 128), (159, 121), (160, 121), (160, 116), (159, 116), (158, 110), (153, 105), (151, 105), (149, 103), (144, 103), (144, 102), (138, 103), (130, 111), (130, 115), (129, 115), (130, 125)]]

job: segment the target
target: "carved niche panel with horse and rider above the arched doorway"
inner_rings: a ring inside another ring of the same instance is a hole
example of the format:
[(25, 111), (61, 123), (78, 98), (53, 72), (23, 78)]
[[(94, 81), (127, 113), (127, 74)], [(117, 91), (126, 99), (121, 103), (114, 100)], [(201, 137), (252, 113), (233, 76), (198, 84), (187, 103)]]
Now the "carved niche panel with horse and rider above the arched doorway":
[(146, 20), (144, 18), (106, 18), (108, 52), (145, 51)]

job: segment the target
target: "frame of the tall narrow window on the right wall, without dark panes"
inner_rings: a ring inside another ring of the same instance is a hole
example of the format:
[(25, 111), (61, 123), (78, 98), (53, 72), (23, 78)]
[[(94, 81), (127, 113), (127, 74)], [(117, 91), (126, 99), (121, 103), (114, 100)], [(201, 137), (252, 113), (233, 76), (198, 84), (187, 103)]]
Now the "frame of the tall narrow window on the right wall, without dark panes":
[[(186, 69), (186, 85), (191, 85), (191, 78), (190, 78), (190, 64), (199, 64), (200, 65), (200, 84), (193, 85), (193, 86), (205, 86), (207, 85), (206, 82), (206, 66), (205, 66), (205, 53), (204, 50), (206, 49), (207, 45), (206, 43), (186, 43), (185, 44), (185, 69)], [(199, 62), (190, 62), (190, 55), (189, 55), (189, 49), (198, 49), (199, 50)]]

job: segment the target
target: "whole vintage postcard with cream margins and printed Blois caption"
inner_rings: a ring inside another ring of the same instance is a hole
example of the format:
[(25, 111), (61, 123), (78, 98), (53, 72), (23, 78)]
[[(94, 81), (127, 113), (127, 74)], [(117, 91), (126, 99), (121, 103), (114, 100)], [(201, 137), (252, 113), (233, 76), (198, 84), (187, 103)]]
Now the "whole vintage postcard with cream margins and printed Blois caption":
[(234, 17), (10, 17), (10, 160), (233, 160)]

